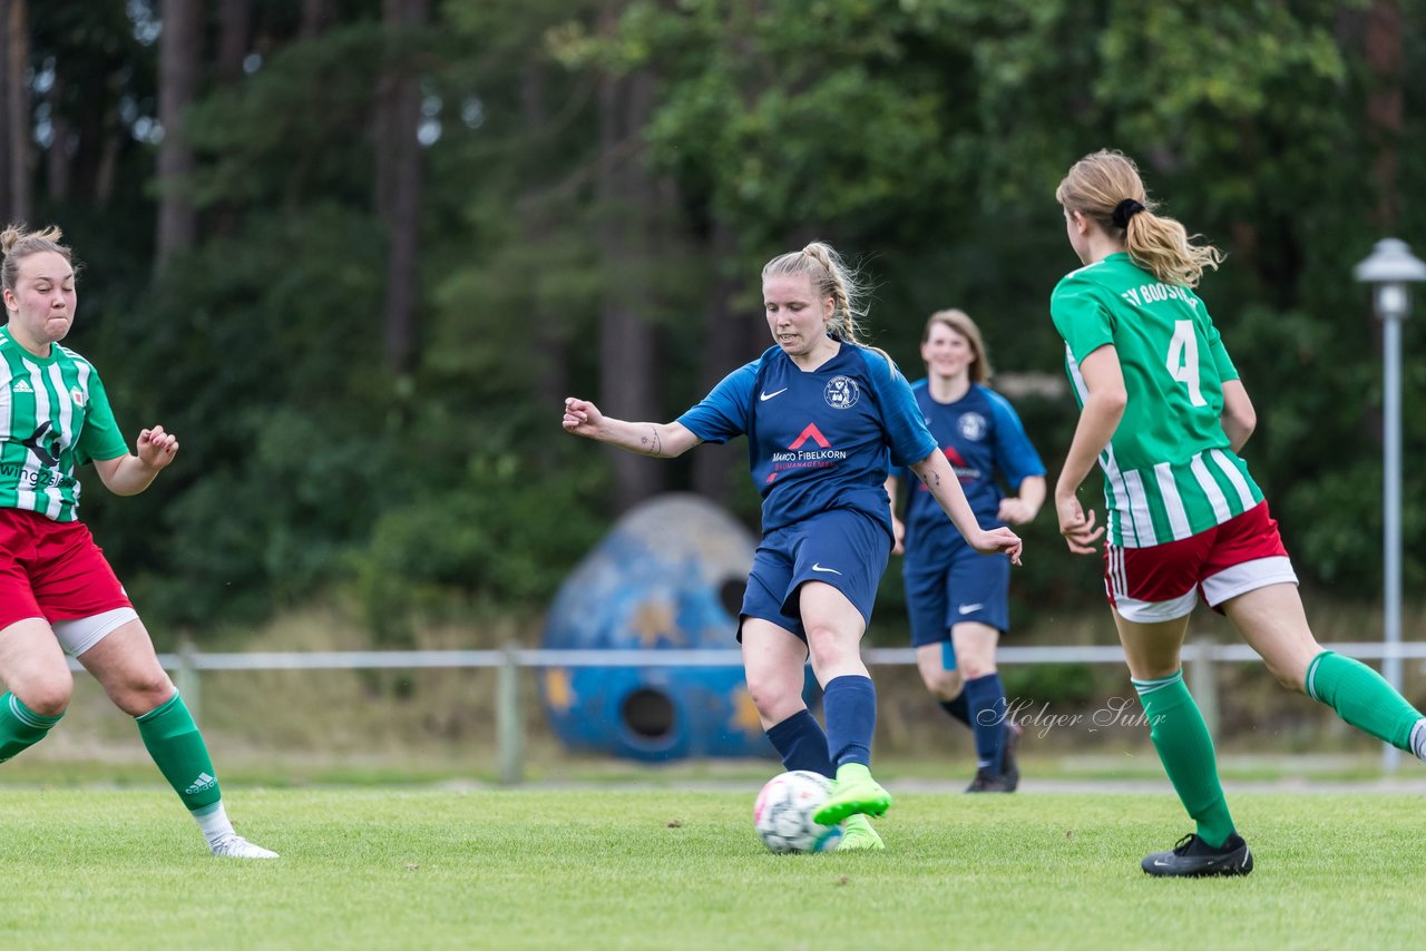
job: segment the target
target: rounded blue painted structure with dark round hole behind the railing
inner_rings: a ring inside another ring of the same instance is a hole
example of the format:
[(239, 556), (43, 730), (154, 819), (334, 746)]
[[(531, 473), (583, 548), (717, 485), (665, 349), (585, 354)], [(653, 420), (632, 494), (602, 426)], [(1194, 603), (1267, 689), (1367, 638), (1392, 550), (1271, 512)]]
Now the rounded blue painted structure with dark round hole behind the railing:
[[(565, 580), (552, 650), (736, 649), (756, 540), (712, 502), (663, 495), (630, 510)], [(549, 667), (545, 711), (573, 750), (637, 760), (771, 756), (742, 666)]]

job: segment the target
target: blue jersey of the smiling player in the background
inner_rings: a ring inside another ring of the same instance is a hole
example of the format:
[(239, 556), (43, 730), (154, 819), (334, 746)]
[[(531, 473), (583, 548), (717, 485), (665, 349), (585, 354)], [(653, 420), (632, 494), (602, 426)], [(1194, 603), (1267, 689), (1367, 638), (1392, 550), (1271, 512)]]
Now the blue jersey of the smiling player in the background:
[[(1028, 476), (1045, 475), (1045, 465), (1030, 443), (1010, 401), (978, 384), (951, 403), (931, 399), (931, 388), (924, 379), (913, 384), (911, 392), (931, 435), (950, 459), (975, 520), (983, 529), (998, 528), (1000, 500), (1004, 495), (997, 475), (1017, 490)], [(906, 512), (907, 560), (918, 556), (940, 557), (963, 545), (961, 533), (925, 485), (906, 469), (900, 476), (910, 496)]]

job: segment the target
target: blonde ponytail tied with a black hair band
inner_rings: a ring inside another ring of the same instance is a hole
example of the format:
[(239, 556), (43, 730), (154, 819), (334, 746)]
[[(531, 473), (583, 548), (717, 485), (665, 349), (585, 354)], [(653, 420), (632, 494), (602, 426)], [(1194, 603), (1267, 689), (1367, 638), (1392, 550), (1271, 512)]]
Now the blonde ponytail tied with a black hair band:
[(1124, 153), (1101, 148), (1077, 161), (1055, 188), (1055, 201), (1078, 211), (1111, 237), (1122, 235), (1134, 264), (1164, 284), (1196, 287), (1205, 268), (1216, 268), (1222, 252), (1211, 244), (1192, 244), (1182, 224), (1155, 212), (1139, 170)]

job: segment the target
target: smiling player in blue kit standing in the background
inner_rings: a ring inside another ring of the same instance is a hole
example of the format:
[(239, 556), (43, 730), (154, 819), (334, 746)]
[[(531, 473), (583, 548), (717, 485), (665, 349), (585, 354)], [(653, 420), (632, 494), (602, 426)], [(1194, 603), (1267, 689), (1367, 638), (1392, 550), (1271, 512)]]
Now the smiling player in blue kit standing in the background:
[[(921, 334), (925, 379), (911, 385), (925, 423), (950, 459), (961, 490), (983, 526), (1022, 525), (1045, 500), (1045, 466), (1010, 402), (990, 389), (990, 356), (980, 328), (964, 311), (937, 311)], [(1001, 492), (998, 478), (1015, 495)], [(915, 664), (941, 709), (975, 737), (975, 778), (967, 793), (1014, 793), (1020, 783), (1005, 687), (995, 644), (1010, 629), (1010, 559), (973, 550), (947, 522), (925, 486), (910, 486), (906, 522), (897, 519), (897, 488), (887, 478), (897, 553), (906, 582)]]

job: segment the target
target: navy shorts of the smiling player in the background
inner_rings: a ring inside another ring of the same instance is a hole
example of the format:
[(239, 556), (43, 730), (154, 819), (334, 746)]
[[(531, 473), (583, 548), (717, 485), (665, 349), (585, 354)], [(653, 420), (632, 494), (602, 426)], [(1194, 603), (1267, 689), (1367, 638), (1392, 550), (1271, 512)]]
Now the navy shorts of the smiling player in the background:
[(911, 643), (917, 647), (948, 642), (951, 626), (963, 622), (1010, 629), (1010, 557), (981, 555), (970, 545), (931, 565), (903, 565), (906, 610)]

